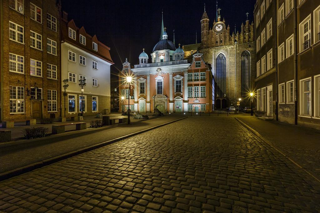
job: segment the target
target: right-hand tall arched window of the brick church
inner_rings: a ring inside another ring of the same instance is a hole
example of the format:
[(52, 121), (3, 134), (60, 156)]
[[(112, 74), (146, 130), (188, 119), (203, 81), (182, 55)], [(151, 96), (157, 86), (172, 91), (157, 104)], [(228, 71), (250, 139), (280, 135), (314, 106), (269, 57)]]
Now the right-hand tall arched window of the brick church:
[(247, 50), (241, 54), (241, 97), (245, 97), (250, 91), (250, 53)]

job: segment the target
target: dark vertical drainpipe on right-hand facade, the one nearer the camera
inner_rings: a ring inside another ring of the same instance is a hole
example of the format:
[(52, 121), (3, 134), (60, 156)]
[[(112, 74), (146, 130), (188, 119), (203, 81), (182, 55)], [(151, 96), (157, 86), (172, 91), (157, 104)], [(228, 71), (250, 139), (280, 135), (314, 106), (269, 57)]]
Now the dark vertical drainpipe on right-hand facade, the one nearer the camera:
[(297, 60), (297, 1), (293, 1), (293, 41), (294, 41), (294, 65), (293, 65), (293, 79), (294, 79), (294, 125), (298, 124), (298, 60)]

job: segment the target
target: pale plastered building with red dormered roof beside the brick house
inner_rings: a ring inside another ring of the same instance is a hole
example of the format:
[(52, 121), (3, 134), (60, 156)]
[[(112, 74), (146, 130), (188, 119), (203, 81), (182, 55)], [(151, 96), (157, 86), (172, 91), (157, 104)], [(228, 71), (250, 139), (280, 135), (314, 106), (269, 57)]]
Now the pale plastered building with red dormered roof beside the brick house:
[[(62, 116), (77, 117), (98, 113), (110, 113), (110, 66), (113, 61), (110, 48), (100, 42), (96, 35), (68, 21), (63, 11), (61, 19), (61, 97)], [(86, 80), (81, 87), (79, 80)]]

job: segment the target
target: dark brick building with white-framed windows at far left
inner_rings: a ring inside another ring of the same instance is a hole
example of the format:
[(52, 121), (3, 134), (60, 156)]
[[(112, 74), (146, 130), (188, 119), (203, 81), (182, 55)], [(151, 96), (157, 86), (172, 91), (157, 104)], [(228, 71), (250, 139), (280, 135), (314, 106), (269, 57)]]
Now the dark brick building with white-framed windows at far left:
[(60, 116), (60, 4), (1, 1), (1, 120)]

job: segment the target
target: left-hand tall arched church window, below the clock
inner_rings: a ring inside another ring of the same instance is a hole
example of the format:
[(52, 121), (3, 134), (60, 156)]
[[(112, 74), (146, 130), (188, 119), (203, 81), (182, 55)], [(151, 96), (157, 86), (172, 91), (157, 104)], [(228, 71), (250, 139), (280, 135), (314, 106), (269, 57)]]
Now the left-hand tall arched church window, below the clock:
[(216, 87), (216, 98), (226, 98), (226, 79), (227, 79), (227, 68), (226, 68), (226, 57), (220, 53), (216, 58), (216, 72), (215, 80), (217, 82)]

